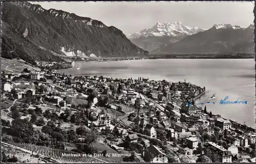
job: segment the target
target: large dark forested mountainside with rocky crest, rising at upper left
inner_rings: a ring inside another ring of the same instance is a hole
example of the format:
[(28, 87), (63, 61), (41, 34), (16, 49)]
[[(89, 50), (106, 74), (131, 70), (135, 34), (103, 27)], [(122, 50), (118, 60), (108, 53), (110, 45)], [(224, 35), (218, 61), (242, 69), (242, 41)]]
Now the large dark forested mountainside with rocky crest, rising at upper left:
[(144, 56), (119, 29), (61, 10), (45, 10), (28, 2), (2, 5), (2, 57), (61, 61), (81, 57)]

